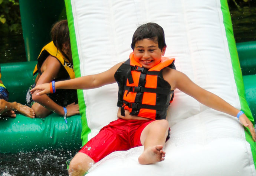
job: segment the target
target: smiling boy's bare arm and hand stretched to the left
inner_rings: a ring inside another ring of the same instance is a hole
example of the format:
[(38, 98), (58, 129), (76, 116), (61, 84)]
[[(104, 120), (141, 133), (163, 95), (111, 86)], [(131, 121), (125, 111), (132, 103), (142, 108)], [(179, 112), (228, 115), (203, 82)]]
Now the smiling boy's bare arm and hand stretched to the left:
[[(115, 72), (122, 64), (118, 63), (114, 65), (109, 70), (105, 72), (98, 73), (95, 75), (87, 75), (82, 77), (77, 77), (75, 79), (59, 81), (55, 83), (55, 89), (93, 89), (97, 87), (104, 86), (106, 84), (115, 83)], [(49, 83), (40, 84), (30, 90), (30, 93), (33, 94), (36, 90), (42, 90), (37, 93), (37, 95), (43, 95), (50, 93)]]

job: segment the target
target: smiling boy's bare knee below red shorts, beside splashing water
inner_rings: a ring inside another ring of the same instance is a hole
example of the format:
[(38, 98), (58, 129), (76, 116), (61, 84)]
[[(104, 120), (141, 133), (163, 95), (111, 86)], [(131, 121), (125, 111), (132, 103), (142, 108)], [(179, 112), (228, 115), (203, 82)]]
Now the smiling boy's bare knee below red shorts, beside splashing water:
[(78, 152), (69, 164), (69, 176), (83, 176), (95, 162), (82, 152)]

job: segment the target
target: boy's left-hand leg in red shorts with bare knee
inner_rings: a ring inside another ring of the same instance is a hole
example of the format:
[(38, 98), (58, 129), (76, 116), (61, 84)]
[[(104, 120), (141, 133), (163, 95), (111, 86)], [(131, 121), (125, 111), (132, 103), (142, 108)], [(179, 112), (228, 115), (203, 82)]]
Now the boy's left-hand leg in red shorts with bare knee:
[(126, 120), (118, 119), (103, 127), (72, 159), (69, 174), (71, 176), (83, 175), (95, 162), (100, 161), (109, 153), (128, 150), (128, 136), (123, 124), (126, 124)]

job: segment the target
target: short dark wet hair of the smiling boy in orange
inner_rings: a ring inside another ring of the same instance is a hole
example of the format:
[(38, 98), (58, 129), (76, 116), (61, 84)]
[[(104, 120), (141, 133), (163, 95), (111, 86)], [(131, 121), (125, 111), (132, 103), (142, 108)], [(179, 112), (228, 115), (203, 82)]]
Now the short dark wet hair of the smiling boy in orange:
[(134, 32), (132, 36), (132, 44), (131, 48), (134, 50), (135, 44), (137, 41), (142, 39), (150, 39), (154, 42), (158, 43), (158, 48), (162, 49), (166, 46), (165, 38), (164, 38), (164, 30), (163, 28), (156, 23), (146, 23), (142, 24), (137, 30)]

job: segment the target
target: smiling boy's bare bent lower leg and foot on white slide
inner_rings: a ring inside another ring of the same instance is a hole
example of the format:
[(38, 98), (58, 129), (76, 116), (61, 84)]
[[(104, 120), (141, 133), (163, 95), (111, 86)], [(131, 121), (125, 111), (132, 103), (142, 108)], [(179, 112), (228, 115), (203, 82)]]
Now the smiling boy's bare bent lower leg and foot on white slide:
[(167, 120), (155, 120), (148, 124), (141, 132), (141, 144), (144, 151), (138, 158), (140, 164), (151, 164), (164, 160), (163, 147), (168, 135)]

